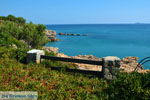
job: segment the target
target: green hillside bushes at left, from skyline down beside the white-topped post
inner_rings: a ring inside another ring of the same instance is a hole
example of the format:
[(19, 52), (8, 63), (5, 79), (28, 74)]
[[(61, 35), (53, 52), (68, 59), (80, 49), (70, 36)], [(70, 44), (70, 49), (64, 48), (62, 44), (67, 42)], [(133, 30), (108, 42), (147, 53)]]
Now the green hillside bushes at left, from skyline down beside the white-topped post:
[(46, 27), (22, 17), (0, 16), (0, 57), (25, 62), (26, 52), (47, 43)]

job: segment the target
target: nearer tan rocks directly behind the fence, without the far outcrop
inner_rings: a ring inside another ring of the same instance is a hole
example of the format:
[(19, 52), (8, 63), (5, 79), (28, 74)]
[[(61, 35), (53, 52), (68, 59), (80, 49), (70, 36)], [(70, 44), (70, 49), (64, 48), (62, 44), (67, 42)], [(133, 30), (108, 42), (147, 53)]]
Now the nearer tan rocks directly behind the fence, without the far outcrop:
[[(87, 59), (87, 60), (101, 60), (102, 58), (95, 57), (93, 55), (77, 55), (77, 56), (67, 56), (63, 53), (58, 52), (58, 48), (54, 47), (45, 47), (44, 48), (48, 52), (55, 52), (56, 56), (58, 57), (68, 57), (68, 58), (76, 58), (76, 59)], [(133, 72), (138, 65), (138, 57), (125, 57), (121, 59), (121, 66), (120, 69), (123, 72)], [(89, 65), (89, 64), (79, 64), (79, 63), (74, 63), (76, 65), (77, 69), (80, 70), (92, 70), (92, 71), (102, 71), (102, 66), (97, 66), (97, 65)], [(141, 67), (138, 67), (138, 72), (140, 73), (146, 73), (150, 72), (150, 70), (144, 70)]]

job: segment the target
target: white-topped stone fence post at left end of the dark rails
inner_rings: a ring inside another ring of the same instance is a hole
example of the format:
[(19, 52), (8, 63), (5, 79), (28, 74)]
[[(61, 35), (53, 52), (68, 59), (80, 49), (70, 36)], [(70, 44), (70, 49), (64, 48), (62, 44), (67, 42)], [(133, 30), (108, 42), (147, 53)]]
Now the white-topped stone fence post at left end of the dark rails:
[(39, 64), (41, 62), (41, 55), (45, 55), (43, 50), (30, 50), (27, 52), (27, 63), (34, 62)]

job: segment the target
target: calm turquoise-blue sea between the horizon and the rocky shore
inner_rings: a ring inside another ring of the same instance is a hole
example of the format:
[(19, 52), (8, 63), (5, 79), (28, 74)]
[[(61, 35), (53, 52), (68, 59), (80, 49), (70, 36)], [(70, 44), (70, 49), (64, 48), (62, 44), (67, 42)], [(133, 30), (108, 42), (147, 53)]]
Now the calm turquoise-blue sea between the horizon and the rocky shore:
[(58, 47), (60, 52), (69, 56), (137, 56), (140, 59), (150, 56), (150, 24), (47, 25), (47, 29), (55, 30), (57, 33), (88, 34), (57, 35), (57, 38), (61, 39), (60, 42), (46, 44)]

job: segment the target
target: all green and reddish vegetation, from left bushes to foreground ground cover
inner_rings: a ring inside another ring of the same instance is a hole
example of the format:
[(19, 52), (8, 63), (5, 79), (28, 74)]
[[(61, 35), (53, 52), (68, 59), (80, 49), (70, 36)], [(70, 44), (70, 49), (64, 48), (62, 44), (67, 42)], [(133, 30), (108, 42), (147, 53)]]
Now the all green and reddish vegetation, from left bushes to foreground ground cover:
[(70, 63), (25, 64), (26, 52), (46, 43), (45, 26), (13, 18), (0, 17), (0, 91), (37, 91), (39, 100), (149, 100), (150, 73), (119, 73), (110, 81), (67, 72)]

